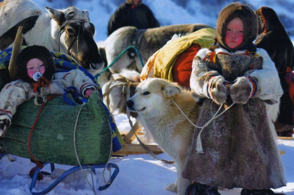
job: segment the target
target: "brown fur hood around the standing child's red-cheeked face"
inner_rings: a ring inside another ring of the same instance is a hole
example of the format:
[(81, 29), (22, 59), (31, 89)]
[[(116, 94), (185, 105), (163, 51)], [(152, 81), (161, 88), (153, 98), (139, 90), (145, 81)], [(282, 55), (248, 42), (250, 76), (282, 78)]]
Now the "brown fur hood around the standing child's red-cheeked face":
[[(241, 18), (244, 24), (244, 34), (242, 43), (231, 49), (225, 43), (226, 26), (233, 18)], [(247, 5), (239, 2), (231, 3), (223, 8), (217, 18), (215, 44), (221, 44), (230, 51), (236, 51), (252, 45), (257, 36), (257, 17), (254, 11)]]

